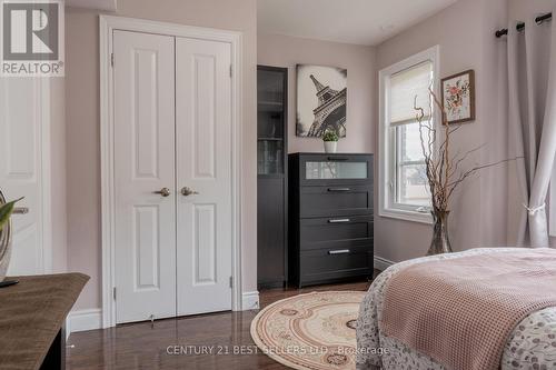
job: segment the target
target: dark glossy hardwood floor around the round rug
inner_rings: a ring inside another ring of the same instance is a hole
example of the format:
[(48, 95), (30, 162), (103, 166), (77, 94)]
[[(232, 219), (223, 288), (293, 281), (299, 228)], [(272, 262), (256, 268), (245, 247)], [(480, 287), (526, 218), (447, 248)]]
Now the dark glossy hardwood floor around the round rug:
[[(311, 291), (367, 290), (370, 282), (271, 289), (260, 292), (260, 306)], [(221, 312), (122, 324), (72, 333), (67, 369), (287, 369), (257, 351), (249, 333), (258, 311)], [(175, 347), (177, 346), (177, 347)], [(212, 353), (199, 353), (199, 351)], [(242, 350), (245, 354), (232, 354)], [(172, 354), (168, 352), (180, 352)], [(218, 353), (220, 352), (220, 353)], [(228, 352), (228, 353), (227, 353)]]

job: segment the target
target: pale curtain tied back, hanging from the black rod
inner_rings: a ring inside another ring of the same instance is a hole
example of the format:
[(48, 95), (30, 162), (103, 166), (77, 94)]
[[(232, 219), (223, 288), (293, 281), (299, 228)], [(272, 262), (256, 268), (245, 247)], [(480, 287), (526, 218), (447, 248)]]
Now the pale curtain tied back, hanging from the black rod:
[[(556, 153), (556, 21), (508, 28), (509, 142), (523, 212), (518, 246), (549, 247), (546, 194)], [(555, 200), (553, 200), (555, 201)]]

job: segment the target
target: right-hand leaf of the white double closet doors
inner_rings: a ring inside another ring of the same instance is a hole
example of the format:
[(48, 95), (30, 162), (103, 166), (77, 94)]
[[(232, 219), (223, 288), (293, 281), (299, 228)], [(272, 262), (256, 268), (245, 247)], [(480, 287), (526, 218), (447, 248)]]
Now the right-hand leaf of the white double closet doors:
[(231, 48), (176, 38), (178, 314), (231, 309)]

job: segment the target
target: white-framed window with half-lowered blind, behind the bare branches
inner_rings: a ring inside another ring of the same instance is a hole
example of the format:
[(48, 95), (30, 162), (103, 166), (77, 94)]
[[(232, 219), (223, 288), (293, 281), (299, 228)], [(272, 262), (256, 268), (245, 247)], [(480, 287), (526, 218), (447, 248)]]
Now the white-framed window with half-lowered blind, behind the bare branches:
[(380, 71), (380, 216), (431, 222), (414, 100), (430, 117), (428, 89), (436, 87), (437, 59), (435, 47)]

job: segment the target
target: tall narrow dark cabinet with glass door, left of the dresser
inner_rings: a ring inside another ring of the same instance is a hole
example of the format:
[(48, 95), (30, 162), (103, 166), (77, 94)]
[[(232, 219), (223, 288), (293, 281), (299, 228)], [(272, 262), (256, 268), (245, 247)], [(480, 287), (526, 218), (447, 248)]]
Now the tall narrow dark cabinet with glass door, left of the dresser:
[(286, 283), (288, 209), (288, 69), (257, 68), (258, 287)]

